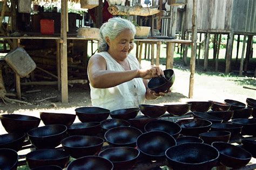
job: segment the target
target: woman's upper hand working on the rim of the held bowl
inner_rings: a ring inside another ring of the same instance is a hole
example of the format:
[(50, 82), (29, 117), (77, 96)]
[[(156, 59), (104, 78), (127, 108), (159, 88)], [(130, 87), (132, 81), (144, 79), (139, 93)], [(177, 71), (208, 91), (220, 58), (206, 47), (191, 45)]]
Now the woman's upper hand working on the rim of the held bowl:
[(138, 74), (138, 77), (141, 77), (143, 79), (151, 79), (152, 77), (163, 75), (164, 72), (159, 66), (151, 66), (151, 68), (139, 69)]

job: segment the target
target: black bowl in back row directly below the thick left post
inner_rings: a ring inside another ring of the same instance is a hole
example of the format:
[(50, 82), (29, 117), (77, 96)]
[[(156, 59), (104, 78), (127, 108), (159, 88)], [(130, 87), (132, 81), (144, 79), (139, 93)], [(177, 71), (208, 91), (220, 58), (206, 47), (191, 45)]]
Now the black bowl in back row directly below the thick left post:
[(76, 115), (40, 112), (40, 118), (45, 125), (60, 124), (69, 126), (75, 121)]

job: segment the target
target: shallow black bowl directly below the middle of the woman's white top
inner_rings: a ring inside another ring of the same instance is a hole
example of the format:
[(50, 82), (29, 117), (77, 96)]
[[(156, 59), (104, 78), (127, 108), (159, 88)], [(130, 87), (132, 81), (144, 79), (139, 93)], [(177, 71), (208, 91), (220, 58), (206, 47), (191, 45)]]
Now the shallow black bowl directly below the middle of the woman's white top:
[(118, 109), (110, 112), (110, 116), (115, 119), (133, 119), (138, 115), (139, 108)]

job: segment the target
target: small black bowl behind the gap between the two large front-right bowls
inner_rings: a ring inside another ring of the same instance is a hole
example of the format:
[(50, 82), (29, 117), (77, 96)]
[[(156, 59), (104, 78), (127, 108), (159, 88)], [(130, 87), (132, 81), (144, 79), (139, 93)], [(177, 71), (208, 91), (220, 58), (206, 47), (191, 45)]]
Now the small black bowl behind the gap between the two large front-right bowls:
[(200, 133), (199, 137), (204, 140), (204, 143), (211, 145), (214, 141), (228, 142), (231, 137), (229, 131), (210, 131)]

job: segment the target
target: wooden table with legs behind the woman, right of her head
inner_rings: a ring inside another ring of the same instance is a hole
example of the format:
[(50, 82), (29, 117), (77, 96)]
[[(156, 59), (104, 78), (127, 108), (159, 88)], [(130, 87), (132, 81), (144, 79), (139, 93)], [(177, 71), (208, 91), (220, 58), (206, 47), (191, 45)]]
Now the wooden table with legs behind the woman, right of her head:
[[(151, 65), (154, 65), (154, 44), (157, 44), (156, 65), (160, 64), (160, 45), (166, 43), (166, 69), (173, 67), (173, 54), (175, 43), (190, 45), (191, 40), (180, 39), (135, 39), (136, 41), (136, 58), (139, 62), (142, 60), (142, 45), (143, 43), (151, 44)], [(139, 48), (140, 47), (140, 48)]]

